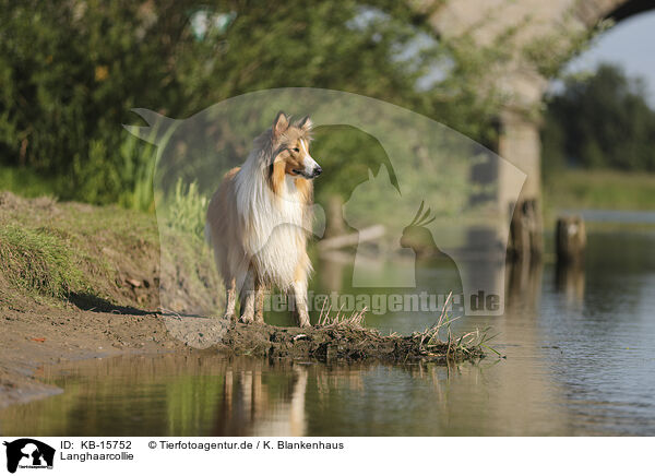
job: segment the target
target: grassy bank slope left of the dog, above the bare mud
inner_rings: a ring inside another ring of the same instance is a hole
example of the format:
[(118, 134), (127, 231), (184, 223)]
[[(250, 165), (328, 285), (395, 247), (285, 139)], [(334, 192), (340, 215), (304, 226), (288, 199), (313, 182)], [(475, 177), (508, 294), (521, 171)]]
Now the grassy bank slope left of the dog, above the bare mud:
[(194, 187), (184, 192), (174, 200), (182, 226), (159, 229), (152, 213), (0, 191), (0, 309), (216, 308), (222, 294), (201, 234), (203, 200)]

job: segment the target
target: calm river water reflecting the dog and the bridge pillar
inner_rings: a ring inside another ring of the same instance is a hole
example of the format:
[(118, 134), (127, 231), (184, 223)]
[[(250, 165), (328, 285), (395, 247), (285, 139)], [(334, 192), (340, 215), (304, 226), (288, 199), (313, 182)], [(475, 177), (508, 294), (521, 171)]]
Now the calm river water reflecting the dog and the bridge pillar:
[[(0, 410), (33, 436), (655, 435), (655, 230), (590, 231), (583, 269), (508, 270), (478, 364), (321, 365), (213, 355), (46, 368), (60, 395)], [(548, 257), (547, 257), (548, 258)], [(367, 318), (389, 330), (393, 316)], [(396, 325), (420, 330), (428, 320)], [(402, 328), (402, 329), (401, 329)]]

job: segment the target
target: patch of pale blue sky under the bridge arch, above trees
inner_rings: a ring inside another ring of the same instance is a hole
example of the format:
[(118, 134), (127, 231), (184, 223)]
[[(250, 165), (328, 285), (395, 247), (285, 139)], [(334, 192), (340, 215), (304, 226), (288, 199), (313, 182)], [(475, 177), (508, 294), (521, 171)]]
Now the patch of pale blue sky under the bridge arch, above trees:
[(642, 76), (648, 104), (655, 107), (655, 11), (626, 19), (598, 35), (565, 72), (593, 71), (599, 62), (618, 63), (630, 78)]

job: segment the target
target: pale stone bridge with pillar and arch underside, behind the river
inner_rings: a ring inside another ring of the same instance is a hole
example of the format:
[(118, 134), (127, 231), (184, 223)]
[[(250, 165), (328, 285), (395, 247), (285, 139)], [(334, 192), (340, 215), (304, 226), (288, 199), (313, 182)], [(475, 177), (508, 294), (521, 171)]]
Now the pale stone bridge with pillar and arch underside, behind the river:
[[(480, 46), (503, 41), (510, 50), (511, 59), (490, 70), (485, 81), (508, 98), (499, 117), (497, 152), (527, 174), (516, 209), (520, 213), (514, 214), (521, 229), (512, 230), (512, 240), (520, 253), (528, 254), (526, 250), (539, 253), (539, 110), (549, 78), (544, 64), (534, 58), (528, 60), (526, 46), (537, 45), (549, 61), (565, 62), (574, 52), (575, 44), (584, 43), (603, 20), (621, 21), (655, 9), (655, 1), (418, 0), (415, 5), (429, 15), (429, 23), (440, 37), (456, 38), (468, 34)], [(505, 35), (509, 31), (514, 32), (510, 38)], [(500, 205), (510, 210), (512, 203), (509, 197), (503, 197), (502, 177), (500, 183)], [(513, 228), (514, 225), (513, 222)]]

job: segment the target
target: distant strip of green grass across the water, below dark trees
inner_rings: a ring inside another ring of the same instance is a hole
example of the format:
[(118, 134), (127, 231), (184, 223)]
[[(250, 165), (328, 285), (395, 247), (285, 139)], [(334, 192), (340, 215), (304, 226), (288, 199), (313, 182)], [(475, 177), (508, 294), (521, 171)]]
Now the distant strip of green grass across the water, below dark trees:
[(544, 181), (550, 210), (655, 210), (655, 174), (565, 170)]

